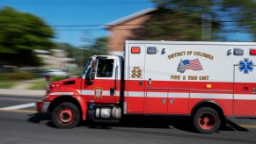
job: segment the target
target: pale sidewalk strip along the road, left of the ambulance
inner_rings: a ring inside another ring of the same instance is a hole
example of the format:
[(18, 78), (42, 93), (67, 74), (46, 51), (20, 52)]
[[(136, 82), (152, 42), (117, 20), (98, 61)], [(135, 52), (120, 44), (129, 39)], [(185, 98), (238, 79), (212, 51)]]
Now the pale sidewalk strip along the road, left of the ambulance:
[(43, 97), (46, 90), (0, 89), (0, 96)]

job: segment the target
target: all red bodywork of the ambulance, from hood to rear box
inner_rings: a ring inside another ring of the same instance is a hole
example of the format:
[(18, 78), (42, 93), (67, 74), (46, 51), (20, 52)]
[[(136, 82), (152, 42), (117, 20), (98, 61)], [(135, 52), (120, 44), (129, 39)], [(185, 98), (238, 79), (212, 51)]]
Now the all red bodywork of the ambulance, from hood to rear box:
[[(73, 85), (62, 85), (65, 81), (55, 84), (55, 88), (51, 92), (51, 97), (45, 101), (53, 101), (61, 95), (54, 95), (55, 92), (73, 92), (83, 110), (83, 119), (86, 119), (87, 104), (118, 104), (121, 96), (124, 95), (124, 101), (127, 103), (127, 113), (141, 114), (182, 114), (190, 115), (194, 106), (201, 101), (212, 101), (218, 104), (226, 116), (255, 116), (256, 100), (252, 99), (233, 99), (234, 95), (253, 95), (251, 90), (255, 83), (211, 83), (211, 82), (168, 82), (168, 81), (152, 81), (149, 86), (148, 81), (125, 81), (125, 90), (121, 91), (121, 87), (115, 89), (113, 96), (104, 95), (95, 97), (95, 89), (100, 88), (107, 92), (114, 87), (114, 80), (93, 80), (92, 84), (88, 84), (84, 79), (69, 79), (76, 81)], [(211, 84), (211, 88), (206, 87)], [(56, 86), (59, 85), (59, 86)], [(118, 81), (121, 86), (121, 81)], [(245, 87), (248, 90), (244, 89)], [(86, 91), (92, 91), (87, 93)], [(94, 92), (93, 92), (94, 91)], [(138, 92), (135, 96), (133, 93)], [(124, 94), (123, 94), (124, 93)], [(126, 96), (126, 94), (128, 96)], [(196, 97), (201, 95), (203, 97)], [(156, 97), (154, 96), (156, 95)], [(177, 96), (176, 96), (177, 95)], [(211, 97), (208, 97), (211, 96)], [(216, 98), (212, 96), (217, 96)], [(228, 95), (230, 98), (222, 97)], [(192, 97), (193, 96), (193, 97)], [(255, 96), (256, 97), (256, 96)]]

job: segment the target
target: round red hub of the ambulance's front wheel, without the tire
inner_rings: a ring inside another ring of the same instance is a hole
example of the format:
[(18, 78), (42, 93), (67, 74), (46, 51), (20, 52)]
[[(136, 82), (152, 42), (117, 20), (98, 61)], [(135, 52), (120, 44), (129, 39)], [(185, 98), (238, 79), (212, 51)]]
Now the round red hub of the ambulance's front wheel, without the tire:
[(64, 109), (59, 113), (58, 119), (61, 123), (69, 124), (74, 119), (73, 112), (70, 109)]

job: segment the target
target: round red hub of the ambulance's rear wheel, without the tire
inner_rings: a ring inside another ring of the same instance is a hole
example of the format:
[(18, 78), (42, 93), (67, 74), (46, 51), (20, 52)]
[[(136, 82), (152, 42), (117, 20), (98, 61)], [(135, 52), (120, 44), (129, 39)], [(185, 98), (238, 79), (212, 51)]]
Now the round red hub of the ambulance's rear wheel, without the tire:
[(216, 117), (211, 113), (203, 113), (199, 117), (199, 125), (203, 129), (212, 129), (216, 125)]

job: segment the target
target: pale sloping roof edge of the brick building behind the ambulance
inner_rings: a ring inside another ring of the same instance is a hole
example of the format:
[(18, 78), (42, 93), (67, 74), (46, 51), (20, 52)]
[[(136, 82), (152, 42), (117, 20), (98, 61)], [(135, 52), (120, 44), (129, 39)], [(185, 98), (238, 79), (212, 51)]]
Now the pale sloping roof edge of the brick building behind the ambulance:
[(138, 12), (135, 12), (134, 14), (131, 14), (131, 15), (128, 15), (126, 17), (123, 17), (123, 18), (119, 18), (117, 20), (114, 20), (110, 23), (107, 23), (106, 25), (103, 25), (102, 27), (103, 28), (110, 28), (114, 25), (119, 25), (121, 23), (124, 23), (130, 19), (133, 19), (133, 18), (137, 18), (137, 17), (140, 17), (144, 14), (147, 14), (147, 13), (150, 13), (151, 11), (156, 11), (157, 9), (156, 8), (149, 8), (149, 9), (145, 9), (143, 11), (138, 11)]

